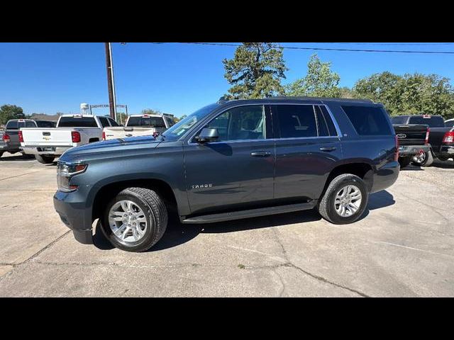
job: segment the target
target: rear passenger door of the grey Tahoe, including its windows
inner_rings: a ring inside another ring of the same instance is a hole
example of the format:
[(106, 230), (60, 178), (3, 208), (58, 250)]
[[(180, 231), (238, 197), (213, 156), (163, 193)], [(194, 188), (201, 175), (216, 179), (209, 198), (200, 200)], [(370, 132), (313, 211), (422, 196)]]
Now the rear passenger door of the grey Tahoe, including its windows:
[(281, 104), (271, 108), (276, 139), (275, 198), (318, 199), (341, 159), (341, 142), (324, 105)]

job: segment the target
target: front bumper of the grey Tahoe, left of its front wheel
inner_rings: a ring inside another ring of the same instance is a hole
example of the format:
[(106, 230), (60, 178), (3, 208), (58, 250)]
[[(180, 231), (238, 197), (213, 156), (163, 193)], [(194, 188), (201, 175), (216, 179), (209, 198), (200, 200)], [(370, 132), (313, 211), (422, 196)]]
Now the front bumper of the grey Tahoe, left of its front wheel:
[(77, 191), (73, 193), (57, 191), (54, 195), (54, 208), (60, 215), (60, 220), (72, 229), (78, 242), (93, 244), (92, 210), (85, 208), (85, 200)]

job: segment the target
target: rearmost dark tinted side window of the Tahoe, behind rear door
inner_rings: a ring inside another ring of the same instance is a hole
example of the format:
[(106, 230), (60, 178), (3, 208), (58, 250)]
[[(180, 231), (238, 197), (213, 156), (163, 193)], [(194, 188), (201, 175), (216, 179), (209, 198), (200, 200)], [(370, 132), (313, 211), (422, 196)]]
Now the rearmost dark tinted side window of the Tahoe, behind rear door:
[(358, 135), (392, 135), (386, 113), (371, 106), (342, 106)]

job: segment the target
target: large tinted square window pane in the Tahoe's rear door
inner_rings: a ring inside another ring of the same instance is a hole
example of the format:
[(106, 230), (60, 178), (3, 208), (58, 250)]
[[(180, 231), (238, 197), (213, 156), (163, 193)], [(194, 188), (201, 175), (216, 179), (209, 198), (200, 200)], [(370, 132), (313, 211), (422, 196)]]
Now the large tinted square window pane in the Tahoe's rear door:
[(277, 105), (281, 138), (317, 137), (317, 125), (312, 105)]

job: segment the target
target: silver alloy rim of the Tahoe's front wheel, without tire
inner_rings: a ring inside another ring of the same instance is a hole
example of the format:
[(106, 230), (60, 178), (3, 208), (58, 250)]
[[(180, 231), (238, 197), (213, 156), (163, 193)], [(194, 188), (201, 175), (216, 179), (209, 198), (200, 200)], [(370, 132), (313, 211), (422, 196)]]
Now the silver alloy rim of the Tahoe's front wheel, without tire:
[(137, 242), (145, 235), (145, 213), (131, 200), (119, 200), (109, 210), (109, 226), (122, 242)]

